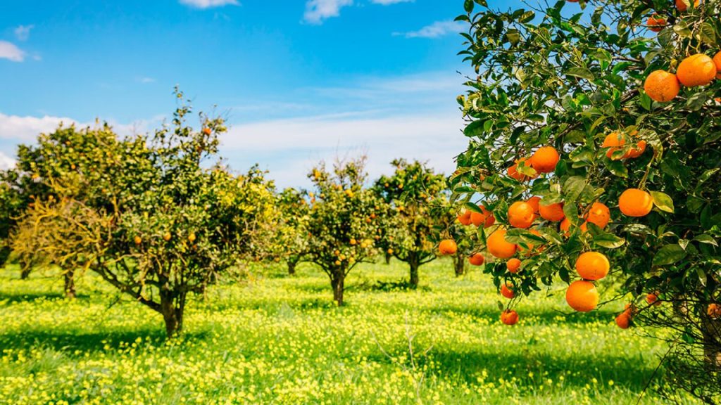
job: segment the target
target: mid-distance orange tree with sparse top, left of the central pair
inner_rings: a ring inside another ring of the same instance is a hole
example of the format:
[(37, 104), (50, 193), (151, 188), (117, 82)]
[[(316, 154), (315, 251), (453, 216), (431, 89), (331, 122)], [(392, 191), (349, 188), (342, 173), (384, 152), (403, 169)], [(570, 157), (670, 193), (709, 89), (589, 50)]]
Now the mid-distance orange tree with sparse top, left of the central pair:
[(382, 200), (364, 187), (365, 156), (337, 161), (332, 170), (324, 164), (308, 177), (314, 198), (308, 220), (308, 258), (328, 275), (333, 299), (343, 305), (345, 277), (361, 262), (378, 254), (376, 236), (384, 227)]

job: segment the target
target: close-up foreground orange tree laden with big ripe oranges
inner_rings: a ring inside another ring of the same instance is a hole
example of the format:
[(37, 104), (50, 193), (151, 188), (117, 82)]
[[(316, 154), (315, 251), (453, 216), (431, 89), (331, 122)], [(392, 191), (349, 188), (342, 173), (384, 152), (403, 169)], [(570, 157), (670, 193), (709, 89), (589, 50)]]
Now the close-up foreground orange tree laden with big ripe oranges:
[[(678, 331), (672, 349), (702, 348), (669, 357), (701, 361), (705, 383), (691, 391), (718, 394), (718, 3), (464, 6), (461, 54), (477, 77), (458, 99), (469, 148), (451, 182), (456, 199), (479, 198), (495, 215), (482, 246), (502, 260), (487, 271), (516, 294), (559, 276), (569, 305), (588, 311), (608, 269), (579, 257), (600, 253), (637, 302), (620, 324), (663, 320)], [(510, 258), (520, 271), (508, 271)], [(649, 293), (667, 305), (648, 305)]]

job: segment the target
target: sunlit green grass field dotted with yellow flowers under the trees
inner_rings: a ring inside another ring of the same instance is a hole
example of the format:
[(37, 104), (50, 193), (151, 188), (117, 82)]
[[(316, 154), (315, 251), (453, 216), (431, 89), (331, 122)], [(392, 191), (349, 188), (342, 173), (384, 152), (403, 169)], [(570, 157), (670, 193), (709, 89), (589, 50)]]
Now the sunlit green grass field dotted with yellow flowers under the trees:
[(456, 278), (446, 259), (415, 291), (379, 288), (402, 263), (355, 269), (340, 309), (310, 265), (250, 274), (192, 301), (185, 337), (166, 343), (159, 315), (93, 277), (66, 301), (61, 280), (0, 271), (0, 403), (663, 402), (640, 397), (663, 345), (618, 329), (618, 306), (567, 316), (561, 293), (538, 294), (504, 326), (490, 277)]

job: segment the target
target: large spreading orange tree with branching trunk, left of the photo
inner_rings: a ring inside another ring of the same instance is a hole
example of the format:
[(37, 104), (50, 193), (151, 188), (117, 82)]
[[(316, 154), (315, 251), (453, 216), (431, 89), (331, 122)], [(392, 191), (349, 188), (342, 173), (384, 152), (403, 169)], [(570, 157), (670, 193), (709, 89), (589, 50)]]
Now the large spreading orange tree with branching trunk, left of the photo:
[[(182, 94), (177, 94), (182, 99)], [(200, 130), (185, 124), (181, 104), (172, 125), (154, 135), (108, 135), (96, 166), (102, 177), (81, 171), (43, 180), (50, 195), (32, 231), (43, 255), (61, 263), (73, 251), (85, 267), (162, 314), (173, 337), (182, 330), (187, 295), (208, 284), (257, 249), (257, 223), (273, 213), (273, 183), (253, 168), (234, 176), (208, 161), (216, 156), (223, 120), (200, 115)], [(84, 190), (80, 192), (80, 190)], [(62, 229), (62, 238), (54, 237)], [(70, 245), (72, 243), (72, 245)]]

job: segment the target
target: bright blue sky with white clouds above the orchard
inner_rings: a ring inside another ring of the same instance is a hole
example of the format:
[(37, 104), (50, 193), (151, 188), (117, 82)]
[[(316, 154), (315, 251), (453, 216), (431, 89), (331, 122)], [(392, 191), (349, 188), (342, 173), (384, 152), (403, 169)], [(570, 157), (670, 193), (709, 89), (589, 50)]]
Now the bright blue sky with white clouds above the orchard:
[(173, 86), (226, 115), (221, 153), (280, 186), (315, 161), (366, 152), (448, 172), (466, 146), (455, 102), (462, 0), (6, 1), (0, 165), (58, 122), (156, 128)]

